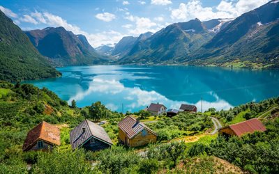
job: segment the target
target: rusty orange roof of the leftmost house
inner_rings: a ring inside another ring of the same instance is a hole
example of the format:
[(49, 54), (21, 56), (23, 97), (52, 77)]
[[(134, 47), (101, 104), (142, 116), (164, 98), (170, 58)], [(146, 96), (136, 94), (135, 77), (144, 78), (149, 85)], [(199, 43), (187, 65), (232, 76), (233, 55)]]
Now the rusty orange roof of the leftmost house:
[(39, 139), (60, 145), (60, 129), (48, 122), (40, 122), (40, 124), (28, 132), (22, 150), (29, 150)]

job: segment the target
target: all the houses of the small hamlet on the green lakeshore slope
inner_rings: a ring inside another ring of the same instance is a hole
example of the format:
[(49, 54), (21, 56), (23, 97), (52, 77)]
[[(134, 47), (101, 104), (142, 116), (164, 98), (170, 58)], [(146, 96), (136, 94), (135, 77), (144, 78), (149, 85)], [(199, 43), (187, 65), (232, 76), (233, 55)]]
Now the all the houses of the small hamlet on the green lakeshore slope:
[[(151, 103), (144, 111), (151, 116), (163, 116), (172, 118), (179, 113), (197, 113), (197, 106), (189, 104), (181, 104), (179, 109), (167, 109), (163, 104)], [(217, 123), (216, 123), (217, 121)], [(212, 118), (214, 129), (222, 136), (239, 136), (244, 134), (252, 134), (253, 132), (264, 132), (266, 127), (257, 118), (252, 118), (236, 124), (220, 127), (220, 122), (216, 118)], [(105, 121), (92, 122), (85, 119), (79, 125), (70, 130), (70, 145), (73, 150), (84, 148), (85, 150), (98, 151), (110, 148), (114, 143), (105, 129), (101, 126)], [(125, 145), (130, 148), (141, 147), (149, 143), (158, 143), (158, 133), (146, 126), (140, 118), (136, 116), (125, 116), (118, 122), (118, 145)], [(218, 126), (219, 125), (219, 126)], [(213, 131), (212, 134), (216, 134)], [(40, 122), (33, 127), (24, 141), (22, 150), (24, 152), (30, 150), (52, 151), (55, 146), (61, 145), (60, 129), (48, 122)]]

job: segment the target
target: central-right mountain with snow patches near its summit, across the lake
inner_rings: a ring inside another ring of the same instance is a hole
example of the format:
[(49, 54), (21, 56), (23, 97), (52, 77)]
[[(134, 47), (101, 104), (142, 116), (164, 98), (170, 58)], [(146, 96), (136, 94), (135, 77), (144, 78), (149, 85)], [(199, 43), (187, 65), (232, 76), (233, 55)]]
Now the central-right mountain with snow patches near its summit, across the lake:
[(188, 56), (215, 33), (206, 29), (199, 19), (167, 26), (146, 40), (133, 45), (119, 63), (176, 63), (178, 58)]

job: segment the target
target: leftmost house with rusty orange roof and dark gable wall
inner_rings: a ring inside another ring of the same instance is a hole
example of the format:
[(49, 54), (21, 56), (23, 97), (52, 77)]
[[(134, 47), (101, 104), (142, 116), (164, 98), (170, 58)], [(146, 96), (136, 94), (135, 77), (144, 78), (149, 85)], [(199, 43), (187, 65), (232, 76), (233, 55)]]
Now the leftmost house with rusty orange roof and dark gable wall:
[(28, 132), (22, 150), (49, 151), (55, 145), (60, 145), (60, 129), (43, 121)]

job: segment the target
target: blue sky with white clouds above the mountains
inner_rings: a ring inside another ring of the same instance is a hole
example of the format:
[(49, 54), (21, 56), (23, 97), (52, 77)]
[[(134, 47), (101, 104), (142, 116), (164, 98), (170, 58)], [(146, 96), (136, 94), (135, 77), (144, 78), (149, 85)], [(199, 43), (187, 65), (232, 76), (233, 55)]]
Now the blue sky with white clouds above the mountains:
[(235, 18), (269, 0), (0, 0), (0, 10), (22, 30), (63, 26), (93, 47), (123, 36), (155, 33), (169, 24)]

